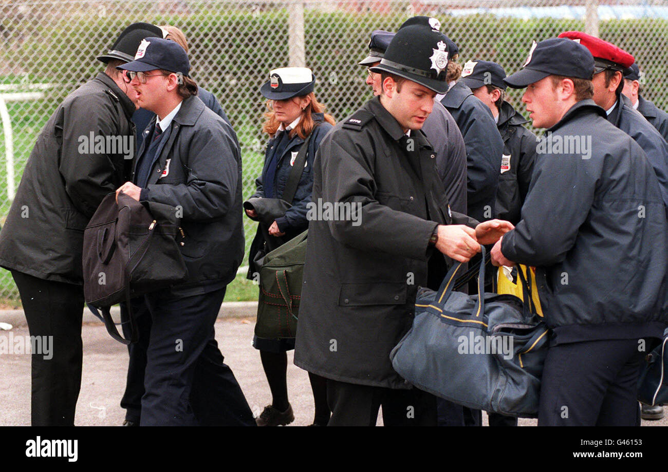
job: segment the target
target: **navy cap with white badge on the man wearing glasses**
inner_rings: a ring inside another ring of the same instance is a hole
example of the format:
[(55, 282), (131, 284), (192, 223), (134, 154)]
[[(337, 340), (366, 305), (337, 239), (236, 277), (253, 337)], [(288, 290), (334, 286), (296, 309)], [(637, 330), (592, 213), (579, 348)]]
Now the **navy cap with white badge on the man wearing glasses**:
[(116, 69), (134, 72), (146, 72), (162, 69), (169, 72), (181, 73), (188, 77), (190, 61), (188, 53), (180, 45), (170, 39), (149, 37), (142, 39), (142, 43), (134, 55), (134, 61), (119, 65)]

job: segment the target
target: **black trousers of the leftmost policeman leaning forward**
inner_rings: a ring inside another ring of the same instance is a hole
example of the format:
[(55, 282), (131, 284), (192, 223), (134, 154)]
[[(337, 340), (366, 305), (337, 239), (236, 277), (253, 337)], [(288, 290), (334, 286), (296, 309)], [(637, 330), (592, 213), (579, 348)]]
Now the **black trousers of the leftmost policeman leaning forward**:
[(31, 424), (73, 426), (81, 389), (83, 287), (11, 275), (19, 288), (31, 336), (53, 336), (51, 359), (33, 353)]

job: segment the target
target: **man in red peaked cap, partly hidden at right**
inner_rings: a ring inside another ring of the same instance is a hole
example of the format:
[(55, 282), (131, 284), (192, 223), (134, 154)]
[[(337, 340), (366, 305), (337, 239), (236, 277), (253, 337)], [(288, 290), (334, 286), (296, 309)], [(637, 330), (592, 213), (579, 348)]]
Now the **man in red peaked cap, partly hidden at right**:
[(614, 44), (580, 31), (565, 31), (559, 37), (577, 40), (594, 56), (594, 101), (605, 109), (609, 122), (643, 148), (661, 184), (668, 211), (668, 144), (622, 93), (623, 71), (633, 64), (633, 56)]

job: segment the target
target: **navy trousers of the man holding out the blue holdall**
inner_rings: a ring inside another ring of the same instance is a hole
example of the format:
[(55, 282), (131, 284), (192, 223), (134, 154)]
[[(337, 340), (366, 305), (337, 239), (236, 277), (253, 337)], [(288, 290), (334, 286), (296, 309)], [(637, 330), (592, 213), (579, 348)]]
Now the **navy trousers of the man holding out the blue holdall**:
[(644, 352), (637, 339), (550, 346), (539, 426), (640, 426), (637, 382)]

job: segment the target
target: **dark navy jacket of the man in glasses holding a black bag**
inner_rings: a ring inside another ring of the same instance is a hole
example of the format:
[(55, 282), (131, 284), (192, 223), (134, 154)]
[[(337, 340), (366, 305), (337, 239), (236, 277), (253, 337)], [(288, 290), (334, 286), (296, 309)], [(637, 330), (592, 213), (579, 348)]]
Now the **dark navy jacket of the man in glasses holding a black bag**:
[(167, 132), (142, 201), (179, 211), (188, 278), (172, 292), (187, 296), (231, 282), (243, 258), (241, 156), (232, 127), (197, 96), (182, 101)]

